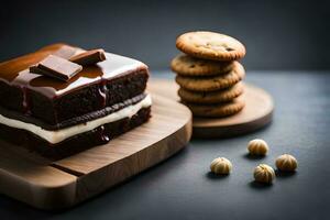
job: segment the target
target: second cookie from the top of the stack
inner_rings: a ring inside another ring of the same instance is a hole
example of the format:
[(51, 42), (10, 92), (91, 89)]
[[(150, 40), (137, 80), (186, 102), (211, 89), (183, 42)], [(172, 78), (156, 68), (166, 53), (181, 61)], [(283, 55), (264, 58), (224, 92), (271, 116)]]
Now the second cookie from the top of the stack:
[(172, 61), (170, 68), (182, 76), (215, 76), (230, 72), (232, 64), (232, 62), (216, 62), (182, 54)]

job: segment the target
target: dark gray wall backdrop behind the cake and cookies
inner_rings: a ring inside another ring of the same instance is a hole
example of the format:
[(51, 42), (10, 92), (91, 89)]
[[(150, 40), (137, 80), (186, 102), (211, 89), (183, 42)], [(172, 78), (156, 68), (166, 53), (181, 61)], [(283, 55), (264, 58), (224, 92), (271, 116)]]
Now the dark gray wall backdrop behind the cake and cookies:
[(329, 69), (330, 3), (306, 0), (1, 1), (0, 61), (54, 42), (168, 67), (175, 38), (227, 33), (248, 48), (248, 69)]

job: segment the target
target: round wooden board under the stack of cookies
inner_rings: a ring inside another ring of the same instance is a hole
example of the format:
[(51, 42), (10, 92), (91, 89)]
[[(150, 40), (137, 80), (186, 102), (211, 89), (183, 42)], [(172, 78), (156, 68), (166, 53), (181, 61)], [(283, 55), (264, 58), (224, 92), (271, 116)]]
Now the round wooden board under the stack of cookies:
[[(152, 94), (179, 101), (178, 85), (173, 80), (153, 79), (148, 85), (148, 90)], [(244, 96), (246, 106), (238, 114), (221, 119), (194, 118), (193, 136), (230, 138), (255, 131), (268, 124), (274, 111), (271, 95), (261, 88), (245, 84)]]

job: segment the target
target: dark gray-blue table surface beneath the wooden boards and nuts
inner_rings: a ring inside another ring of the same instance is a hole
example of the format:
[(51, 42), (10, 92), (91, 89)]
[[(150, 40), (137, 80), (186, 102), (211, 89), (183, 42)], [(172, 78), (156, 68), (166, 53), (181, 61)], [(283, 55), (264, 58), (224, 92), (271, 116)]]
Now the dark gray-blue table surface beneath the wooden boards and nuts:
[[(35, 210), (0, 196), (0, 218), (329, 219), (330, 73), (248, 72), (246, 81), (274, 97), (274, 121), (267, 128), (227, 140), (193, 140), (164, 163), (64, 212)], [(255, 138), (270, 144), (264, 158), (246, 157), (246, 144)], [(283, 153), (296, 156), (298, 170), (277, 176), (271, 186), (254, 184), (253, 168), (260, 163), (274, 167)], [(218, 156), (231, 160), (231, 175), (210, 175), (210, 162)]]

